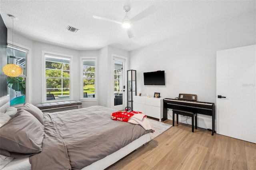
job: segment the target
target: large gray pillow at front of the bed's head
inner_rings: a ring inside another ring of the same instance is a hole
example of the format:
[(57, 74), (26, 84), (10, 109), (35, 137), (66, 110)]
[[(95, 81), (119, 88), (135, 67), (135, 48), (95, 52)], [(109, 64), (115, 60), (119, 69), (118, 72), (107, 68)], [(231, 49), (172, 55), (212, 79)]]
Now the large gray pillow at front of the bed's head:
[(42, 151), (44, 125), (23, 109), (0, 128), (0, 154), (22, 156)]

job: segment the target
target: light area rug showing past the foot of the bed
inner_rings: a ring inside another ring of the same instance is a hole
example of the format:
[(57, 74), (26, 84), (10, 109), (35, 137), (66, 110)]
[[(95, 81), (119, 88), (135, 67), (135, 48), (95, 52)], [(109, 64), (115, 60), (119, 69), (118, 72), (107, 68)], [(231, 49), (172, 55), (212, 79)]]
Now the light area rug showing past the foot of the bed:
[(154, 139), (156, 136), (159, 136), (161, 133), (166, 131), (168, 128), (172, 127), (172, 125), (169, 125), (167, 123), (162, 123), (159, 121), (155, 121), (152, 119), (148, 119), (150, 123), (154, 126), (154, 133), (150, 133), (150, 140)]

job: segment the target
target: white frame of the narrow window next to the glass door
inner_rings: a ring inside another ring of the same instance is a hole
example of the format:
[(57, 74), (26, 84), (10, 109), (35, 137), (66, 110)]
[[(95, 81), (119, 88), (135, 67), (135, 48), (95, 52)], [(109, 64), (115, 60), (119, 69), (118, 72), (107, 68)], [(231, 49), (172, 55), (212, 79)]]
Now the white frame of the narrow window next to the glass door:
[[(95, 62), (95, 78), (94, 87), (95, 94), (92, 98), (84, 98), (84, 78), (83, 78), (83, 61), (94, 61)], [(98, 62), (97, 57), (80, 57), (80, 101), (95, 101), (98, 100)]]

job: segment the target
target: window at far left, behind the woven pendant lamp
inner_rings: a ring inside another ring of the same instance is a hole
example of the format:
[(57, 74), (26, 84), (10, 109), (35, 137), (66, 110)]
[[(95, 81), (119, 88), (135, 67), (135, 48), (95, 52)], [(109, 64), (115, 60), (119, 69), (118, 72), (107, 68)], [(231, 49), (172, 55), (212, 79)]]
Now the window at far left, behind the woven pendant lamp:
[(7, 46), (8, 63), (14, 63), (22, 67), (22, 73), (18, 77), (7, 77), (8, 95), (10, 95), (10, 105), (19, 105), (26, 102), (26, 59), (28, 50), (22, 47)]

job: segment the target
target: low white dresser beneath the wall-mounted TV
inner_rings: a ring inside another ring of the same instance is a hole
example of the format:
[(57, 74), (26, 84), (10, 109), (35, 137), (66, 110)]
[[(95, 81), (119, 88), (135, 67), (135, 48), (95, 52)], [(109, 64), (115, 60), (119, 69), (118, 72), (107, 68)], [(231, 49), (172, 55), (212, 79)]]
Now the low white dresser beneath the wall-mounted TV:
[(146, 96), (134, 96), (133, 110), (143, 112), (145, 115), (154, 117), (162, 121), (163, 118), (163, 99)]

